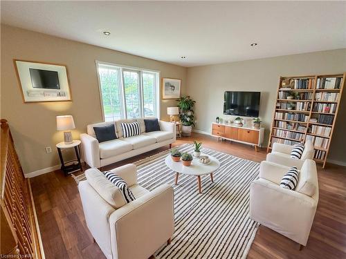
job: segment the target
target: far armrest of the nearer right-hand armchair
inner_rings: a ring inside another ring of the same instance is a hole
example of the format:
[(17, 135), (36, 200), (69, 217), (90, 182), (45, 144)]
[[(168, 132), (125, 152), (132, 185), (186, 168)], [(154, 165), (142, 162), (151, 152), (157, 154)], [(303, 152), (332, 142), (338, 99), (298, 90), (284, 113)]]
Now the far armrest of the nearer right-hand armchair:
[(289, 167), (281, 164), (268, 161), (262, 161), (260, 164), (260, 178), (275, 182), (275, 184), (280, 184), (282, 176), (287, 171), (289, 171)]

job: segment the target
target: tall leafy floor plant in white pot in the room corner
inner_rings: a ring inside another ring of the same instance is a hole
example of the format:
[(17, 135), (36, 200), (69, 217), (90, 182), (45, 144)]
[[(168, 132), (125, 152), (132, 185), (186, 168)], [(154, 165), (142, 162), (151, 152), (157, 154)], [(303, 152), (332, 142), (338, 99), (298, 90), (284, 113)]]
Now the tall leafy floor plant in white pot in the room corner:
[(178, 100), (180, 108), (179, 119), (181, 120), (181, 133), (183, 136), (190, 136), (192, 126), (194, 126), (194, 111), (193, 107), (196, 102), (190, 96), (183, 96)]

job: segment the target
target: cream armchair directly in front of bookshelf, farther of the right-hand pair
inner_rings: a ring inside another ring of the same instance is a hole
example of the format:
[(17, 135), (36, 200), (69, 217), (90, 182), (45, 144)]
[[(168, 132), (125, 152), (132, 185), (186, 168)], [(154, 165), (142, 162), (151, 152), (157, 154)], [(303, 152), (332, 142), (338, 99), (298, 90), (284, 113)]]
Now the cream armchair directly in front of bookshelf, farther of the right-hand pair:
[(293, 146), (274, 143), (271, 153), (266, 155), (266, 161), (273, 162), (275, 164), (282, 164), (284, 166), (296, 166), (298, 169), (302, 168), (302, 164), (305, 160), (313, 159), (313, 144), (311, 140), (307, 140), (304, 144), (304, 151), (300, 159), (291, 158), (291, 151)]

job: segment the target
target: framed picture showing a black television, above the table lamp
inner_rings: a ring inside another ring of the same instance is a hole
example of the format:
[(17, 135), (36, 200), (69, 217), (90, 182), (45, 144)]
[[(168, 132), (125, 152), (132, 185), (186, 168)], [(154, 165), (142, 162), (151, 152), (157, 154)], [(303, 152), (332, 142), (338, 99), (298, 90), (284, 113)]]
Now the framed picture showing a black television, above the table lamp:
[(24, 102), (71, 101), (66, 66), (14, 60)]

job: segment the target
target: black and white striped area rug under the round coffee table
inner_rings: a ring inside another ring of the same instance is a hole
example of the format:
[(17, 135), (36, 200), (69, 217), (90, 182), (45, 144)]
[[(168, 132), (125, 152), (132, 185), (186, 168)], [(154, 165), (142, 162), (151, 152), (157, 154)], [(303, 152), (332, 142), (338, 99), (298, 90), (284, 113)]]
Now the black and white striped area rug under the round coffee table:
[[(185, 144), (179, 150), (192, 153), (193, 147)], [(207, 148), (202, 152), (217, 157), (221, 166), (213, 183), (209, 175), (201, 177), (201, 194), (195, 176), (181, 174), (174, 185), (175, 173), (165, 165), (169, 152), (135, 163), (138, 182), (146, 189), (174, 186), (175, 233), (156, 258), (246, 258), (255, 238), (258, 224), (248, 218), (249, 194), (260, 164)]]

